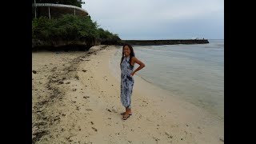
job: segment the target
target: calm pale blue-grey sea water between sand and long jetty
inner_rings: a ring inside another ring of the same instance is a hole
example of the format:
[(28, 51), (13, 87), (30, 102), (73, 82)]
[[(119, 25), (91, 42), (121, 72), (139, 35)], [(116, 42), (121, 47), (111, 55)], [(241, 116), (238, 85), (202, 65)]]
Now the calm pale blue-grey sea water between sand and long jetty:
[[(224, 120), (224, 40), (209, 42), (133, 46), (135, 57), (146, 64), (136, 74)], [(122, 47), (117, 49), (111, 63), (119, 68)]]

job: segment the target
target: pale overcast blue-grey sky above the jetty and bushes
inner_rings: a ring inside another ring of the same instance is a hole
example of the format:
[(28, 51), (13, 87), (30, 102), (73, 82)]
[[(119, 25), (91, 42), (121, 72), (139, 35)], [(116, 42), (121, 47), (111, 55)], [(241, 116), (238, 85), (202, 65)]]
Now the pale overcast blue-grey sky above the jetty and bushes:
[(84, 0), (82, 8), (121, 39), (224, 39), (224, 0)]

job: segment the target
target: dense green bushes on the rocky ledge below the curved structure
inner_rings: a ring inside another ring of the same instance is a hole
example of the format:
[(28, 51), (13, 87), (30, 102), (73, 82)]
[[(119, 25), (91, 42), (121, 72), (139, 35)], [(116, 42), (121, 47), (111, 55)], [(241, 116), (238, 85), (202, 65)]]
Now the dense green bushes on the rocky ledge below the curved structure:
[(34, 18), (32, 38), (46, 42), (98, 40), (113, 43), (120, 40), (118, 34), (98, 28), (97, 22), (93, 22), (90, 17), (79, 17), (73, 14), (66, 14), (58, 19)]

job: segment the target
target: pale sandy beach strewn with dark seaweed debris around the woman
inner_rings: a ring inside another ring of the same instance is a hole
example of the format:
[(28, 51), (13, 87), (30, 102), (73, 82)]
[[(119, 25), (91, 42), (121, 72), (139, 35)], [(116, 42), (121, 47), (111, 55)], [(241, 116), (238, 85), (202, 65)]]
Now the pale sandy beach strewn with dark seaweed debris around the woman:
[(224, 143), (224, 120), (136, 74), (122, 120), (116, 50), (32, 52), (32, 143)]

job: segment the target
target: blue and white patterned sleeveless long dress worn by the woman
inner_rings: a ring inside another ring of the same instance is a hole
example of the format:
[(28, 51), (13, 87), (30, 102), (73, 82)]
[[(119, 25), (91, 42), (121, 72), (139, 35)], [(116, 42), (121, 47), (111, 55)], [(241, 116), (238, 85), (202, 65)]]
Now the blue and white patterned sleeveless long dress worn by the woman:
[(122, 106), (131, 108), (131, 94), (133, 92), (134, 78), (130, 73), (133, 72), (134, 66), (129, 63), (129, 57), (125, 57), (121, 63), (121, 102)]

